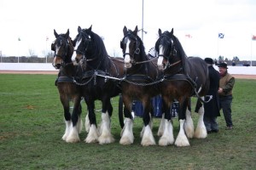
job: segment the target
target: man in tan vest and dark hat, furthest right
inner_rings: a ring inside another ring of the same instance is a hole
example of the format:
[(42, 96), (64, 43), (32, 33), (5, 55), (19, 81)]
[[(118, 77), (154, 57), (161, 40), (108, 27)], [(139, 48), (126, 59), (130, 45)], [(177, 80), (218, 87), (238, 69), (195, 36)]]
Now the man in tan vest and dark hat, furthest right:
[(218, 71), (220, 74), (218, 88), (220, 109), (222, 109), (224, 113), (227, 129), (232, 129), (233, 122), (231, 117), (231, 103), (233, 99), (232, 89), (235, 85), (235, 77), (228, 73), (228, 67), (226, 63), (220, 63), (218, 65)]

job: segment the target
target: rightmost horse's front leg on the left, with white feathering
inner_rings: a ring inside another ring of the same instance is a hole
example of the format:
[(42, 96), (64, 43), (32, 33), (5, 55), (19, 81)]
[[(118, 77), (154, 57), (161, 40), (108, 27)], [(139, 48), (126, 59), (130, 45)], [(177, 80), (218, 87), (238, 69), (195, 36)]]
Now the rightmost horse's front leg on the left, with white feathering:
[(165, 117), (164, 117), (164, 125), (163, 125), (163, 133), (162, 136), (160, 137), (159, 140), (159, 145), (160, 146), (166, 146), (169, 144), (173, 144), (174, 143), (174, 137), (173, 137), (173, 127), (172, 127), (172, 103), (169, 104), (170, 106), (167, 107), (165, 106)]

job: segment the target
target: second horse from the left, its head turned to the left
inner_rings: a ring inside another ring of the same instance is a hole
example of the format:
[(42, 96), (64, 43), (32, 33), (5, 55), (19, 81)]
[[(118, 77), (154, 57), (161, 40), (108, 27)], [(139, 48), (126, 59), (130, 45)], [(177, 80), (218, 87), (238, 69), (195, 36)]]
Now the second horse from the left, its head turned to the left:
[[(88, 108), (90, 120), (89, 133), (86, 143), (109, 144), (114, 141), (110, 129), (110, 116), (113, 107), (110, 99), (121, 93), (119, 79), (123, 77), (124, 59), (109, 57), (102, 38), (88, 29), (78, 28), (79, 34), (74, 39), (73, 61), (86, 65), (81, 77), (82, 95)], [(96, 128), (94, 102), (102, 101), (102, 123), (100, 132)]]

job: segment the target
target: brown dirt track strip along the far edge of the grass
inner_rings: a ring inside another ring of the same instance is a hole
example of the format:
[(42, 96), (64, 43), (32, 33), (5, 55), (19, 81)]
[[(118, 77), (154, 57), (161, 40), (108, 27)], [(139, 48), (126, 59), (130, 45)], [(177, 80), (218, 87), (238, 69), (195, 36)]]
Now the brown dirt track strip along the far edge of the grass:
[[(58, 71), (0, 71), (0, 74), (44, 74), (57, 75)], [(238, 79), (256, 79), (256, 75), (233, 75)]]

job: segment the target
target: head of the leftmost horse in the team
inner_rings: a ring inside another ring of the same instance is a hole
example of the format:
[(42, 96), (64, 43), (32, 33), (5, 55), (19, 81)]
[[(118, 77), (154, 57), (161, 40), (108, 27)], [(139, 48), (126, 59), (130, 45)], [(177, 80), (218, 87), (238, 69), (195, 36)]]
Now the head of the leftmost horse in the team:
[(58, 34), (54, 30), (55, 41), (51, 44), (51, 50), (55, 52), (52, 65), (55, 69), (60, 69), (61, 65), (72, 63), (73, 41), (69, 37), (69, 29), (66, 34)]

